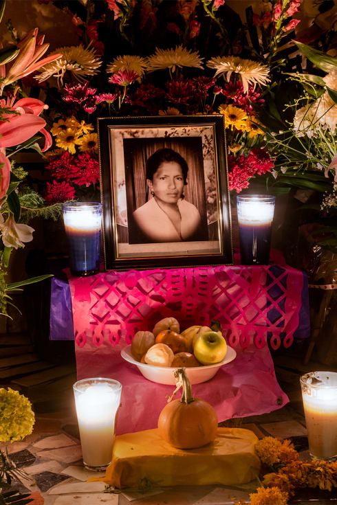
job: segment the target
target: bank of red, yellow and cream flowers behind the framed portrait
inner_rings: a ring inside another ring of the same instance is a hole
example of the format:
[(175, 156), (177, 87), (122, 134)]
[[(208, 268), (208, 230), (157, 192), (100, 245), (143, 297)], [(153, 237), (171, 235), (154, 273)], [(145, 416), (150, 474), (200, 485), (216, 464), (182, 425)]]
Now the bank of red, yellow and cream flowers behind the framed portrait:
[[(73, 1), (62, 7), (72, 15), (81, 43), (56, 49), (61, 58), (35, 76), (54, 97), (53, 128), (60, 120), (69, 124), (72, 117), (95, 126), (98, 115), (221, 113), (230, 190), (241, 192), (254, 177), (274, 170), (258, 115), (274, 93), (274, 76), (286, 65), (273, 58), (283, 36), (298, 23), (298, 0), (263, 1), (262, 12), (248, 12), (246, 25), (222, 0)], [(227, 19), (237, 25), (235, 33)], [(248, 32), (254, 42), (249, 49)], [(116, 47), (126, 50), (116, 54)], [(65, 132), (56, 135), (55, 146), (62, 144), (74, 156), (72, 164), (75, 160), (80, 167), (80, 133), (74, 128), (69, 133), (71, 147), (65, 146)], [(89, 153), (91, 168), (95, 154)], [(64, 164), (62, 155), (55, 153), (55, 163)], [(47, 201), (87, 199), (89, 193), (92, 199), (94, 175), (91, 181), (89, 175), (76, 181), (72, 169), (62, 178), (60, 168), (56, 178), (54, 164), (47, 167), (54, 179), (47, 185)]]

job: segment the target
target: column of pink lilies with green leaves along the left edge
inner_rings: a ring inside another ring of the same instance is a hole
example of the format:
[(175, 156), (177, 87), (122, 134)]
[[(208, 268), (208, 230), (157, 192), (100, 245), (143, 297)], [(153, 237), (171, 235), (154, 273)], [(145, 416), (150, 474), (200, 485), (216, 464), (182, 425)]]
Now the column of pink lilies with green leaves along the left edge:
[[(5, 2), (1, 2), (0, 21)], [(43, 198), (25, 183), (25, 172), (15, 165), (12, 157), (23, 148), (34, 148), (41, 153), (39, 134), (45, 137), (43, 151), (52, 139), (45, 129), (41, 114), (47, 105), (37, 98), (23, 96), (20, 80), (43, 65), (59, 58), (59, 54), (42, 58), (49, 47), (44, 35), (35, 28), (16, 44), (0, 49), (0, 315), (8, 316), (10, 294), (24, 284), (38, 282), (49, 276), (39, 276), (8, 284), (8, 269), (12, 249), (24, 247), (32, 240), (34, 229), (26, 223), (32, 216), (57, 218), (60, 206), (46, 206)], [(42, 58), (42, 59), (41, 59)]]

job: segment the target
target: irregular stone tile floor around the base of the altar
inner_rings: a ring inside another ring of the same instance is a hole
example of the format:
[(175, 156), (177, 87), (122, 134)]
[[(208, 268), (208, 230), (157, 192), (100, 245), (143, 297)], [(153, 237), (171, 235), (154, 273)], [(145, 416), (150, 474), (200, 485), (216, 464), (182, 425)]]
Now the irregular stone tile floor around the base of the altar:
[[(33, 434), (22, 442), (8, 445), (12, 460), (27, 474), (27, 478), (24, 478), (21, 483), (15, 483), (14, 487), (22, 492), (33, 493), (32, 497), (36, 498), (36, 505), (43, 503), (41, 496), (45, 505), (101, 505), (102, 503), (125, 505), (130, 502), (133, 505), (138, 503), (143, 505), (224, 505), (232, 504), (234, 496), (237, 500), (248, 498), (251, 484), (241, 486), (239, 490), (202, 486), (195, 489), (170, 489), (164, 493), (162, 490), (156, 490), (147, 495), (103, 493), (105, 487), (103, 483), (86, 482), (87, 478), (94, 474), (83, 467), (81, 460), (72, 392), (72, 384), (76, 381), (74, 358), (69, 356), (67, 363), (62, 365), (51, 361), (42, 362), (34, 354), (34, 350), (29, 348), (30, 343), (24, 342), (24, 339), (19, 339), (21, 343), (17, 345), (15, 345), (15, 339), (12, 339), (9, 346), (4, 345), (4, 341), (4, 339), (1, 341), (0, 336), (0, 355), (1, 350), (7, 349), (6, 358), (0, 359), (0, 387), (9, 385), (28, 396), (36, 415)], [(8, 350), (10, 346), (12, 356)], [(19, 346), (24, 347), (21, 355)], [(274, 365), (281, 388), (290, 397), (290, 403), (270, 414), (229, 420), (221, 425), (251, 429), (259, 438), (265, 435), (290, 438), (300, 451), (301, 458), (307, 460), (309, 453), (299, 377), (309, 370), (324, 370), (325, 366), (313, 361), (303, 365), (301, 350), (300, 352), (288, 350), (283, 354), (275, 355)], [(329, 369), (331, 370), (331, 367)], [(1, 449), (4, 446), (0, 444)], [(324, 496), (316, 503), (328, 503), (323, 498)], [(299, 503), (311, 502), (306, 502), (303, 497), (303, 501)]]

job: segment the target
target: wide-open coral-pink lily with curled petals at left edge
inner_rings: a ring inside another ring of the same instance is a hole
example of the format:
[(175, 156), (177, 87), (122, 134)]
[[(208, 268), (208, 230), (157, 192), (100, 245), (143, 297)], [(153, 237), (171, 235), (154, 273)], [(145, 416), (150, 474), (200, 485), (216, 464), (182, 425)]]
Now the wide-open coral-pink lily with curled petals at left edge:
[(38, 132), (45, 136), (45, 146), (43, 151), (52, 146), (52, 137), (45, 130), (45, 120), (39, 117), (43, 109), (47, 109), (41, 100), (36, 98), (21, 98), (15, 104), (12, 100), (1, 100), (1, 106), (10, 106), (12, 110), (19, 114), (4, 114), (3, 119), (8, 121), (0, 122), (0, 148), (12, 147), (25, 142)]

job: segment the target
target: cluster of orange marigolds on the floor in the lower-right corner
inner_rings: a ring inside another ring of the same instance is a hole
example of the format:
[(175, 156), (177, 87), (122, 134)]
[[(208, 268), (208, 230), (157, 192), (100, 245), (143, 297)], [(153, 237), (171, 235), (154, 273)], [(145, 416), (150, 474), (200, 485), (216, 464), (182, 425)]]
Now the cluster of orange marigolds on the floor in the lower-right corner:
[[(296, 489), (319, 488), (331, 491), (337, 487), (337, 462), (299, 460), (290, 440), (271, 436), (262, 438), (255, 446), (262, 469), (263, 481), (255, 493), (250, 493), (252, 505), (287, 505)], [(268, 473), (266, 469), (271, 469)], [(245, 505), (241, 500), (235, 505)]]

